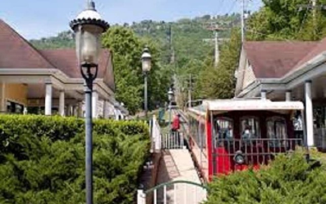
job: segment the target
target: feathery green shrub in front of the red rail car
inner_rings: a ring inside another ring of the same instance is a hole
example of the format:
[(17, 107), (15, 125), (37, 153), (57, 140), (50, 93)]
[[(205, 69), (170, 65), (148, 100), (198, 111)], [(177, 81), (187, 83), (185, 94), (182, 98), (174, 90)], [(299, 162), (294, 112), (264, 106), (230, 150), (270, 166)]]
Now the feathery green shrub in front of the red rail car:
[(326, 173), (311, 169), (304, 155), (281, 155), (259, 171), (240, 171), (209, 184), (210, 203), (326, 203)]

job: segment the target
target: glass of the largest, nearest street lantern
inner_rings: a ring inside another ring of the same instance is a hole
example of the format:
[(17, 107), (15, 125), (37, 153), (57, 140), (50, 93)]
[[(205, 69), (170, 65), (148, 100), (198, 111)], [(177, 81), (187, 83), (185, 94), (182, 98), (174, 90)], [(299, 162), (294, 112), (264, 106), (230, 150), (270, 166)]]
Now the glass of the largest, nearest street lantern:
[(101, 48), (101, 27), (92, 24), (80, 25), (76, 33), (76, 53), (80, 64), (98, 64)]

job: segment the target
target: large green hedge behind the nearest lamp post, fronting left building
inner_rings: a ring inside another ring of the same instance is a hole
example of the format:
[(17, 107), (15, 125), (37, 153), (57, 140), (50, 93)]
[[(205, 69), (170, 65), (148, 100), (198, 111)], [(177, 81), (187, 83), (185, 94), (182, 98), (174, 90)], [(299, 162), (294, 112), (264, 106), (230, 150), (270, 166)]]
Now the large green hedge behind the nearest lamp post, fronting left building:
[[(84, 120), (0, 116), (0, 203), (85, 203)], [(95, 120), (94, 203), (132, 203), (148, 127)]]

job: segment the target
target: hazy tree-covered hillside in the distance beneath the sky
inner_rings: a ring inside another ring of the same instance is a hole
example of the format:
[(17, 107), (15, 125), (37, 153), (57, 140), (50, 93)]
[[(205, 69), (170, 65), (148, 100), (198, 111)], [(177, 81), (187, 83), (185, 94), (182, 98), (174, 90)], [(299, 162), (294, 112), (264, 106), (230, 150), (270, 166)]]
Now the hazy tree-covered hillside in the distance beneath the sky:
[[(223, 28), (232, 28), (240, 23), (240, 15), (231, 14), (223, 16), (205, 15), (193, 19), (183, 18), (175, 22), (143, 20), (141, 22), (125, 23), (122, 26), (130, 28), (137, 36), (149, 38), (158, 42), (161, 52), (160, 62), (170, 62), (170, 25), (172, 47), (175, 50), (175, 60), (179, 67), (191, 59), (203, 60), (213, 49), (213, 44), (203, 39), (213, 38), (212, 31), (207, 30), (210, 24), (220, 25)], [(112, 25), (117, 27), (118, 24)], [(221, 32), (220, 38), (229, 38), (230, 30)], [(64, 48), (73, 47), (73, 34), (71, 31), (59, 33), (56, 37), (31, 40), (37, 48)]]

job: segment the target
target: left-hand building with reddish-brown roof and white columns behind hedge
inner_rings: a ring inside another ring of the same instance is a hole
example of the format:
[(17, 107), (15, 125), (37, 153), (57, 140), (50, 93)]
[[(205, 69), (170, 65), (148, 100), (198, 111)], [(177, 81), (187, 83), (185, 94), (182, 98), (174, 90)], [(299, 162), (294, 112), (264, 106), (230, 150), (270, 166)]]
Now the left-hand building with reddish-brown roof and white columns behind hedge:
[[(39, 50), (0, 19), (0, 112), (83, 116), (84, 79), (74, 49)], [(110, 50), (101, 50), (94, 82), (93, 116), (127, 110), (115, 100)]]

